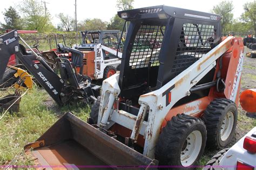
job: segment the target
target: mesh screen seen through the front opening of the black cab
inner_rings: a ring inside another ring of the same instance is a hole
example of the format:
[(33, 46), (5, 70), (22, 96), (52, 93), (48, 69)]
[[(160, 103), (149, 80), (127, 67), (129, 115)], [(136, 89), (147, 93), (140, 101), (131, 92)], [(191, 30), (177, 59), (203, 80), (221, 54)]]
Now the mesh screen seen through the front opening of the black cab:
[(165, 26), (141, 25), (134, 39), (129, 66), (131, 69), (159, 66), (159, 52)]

